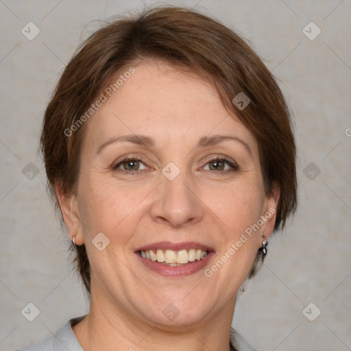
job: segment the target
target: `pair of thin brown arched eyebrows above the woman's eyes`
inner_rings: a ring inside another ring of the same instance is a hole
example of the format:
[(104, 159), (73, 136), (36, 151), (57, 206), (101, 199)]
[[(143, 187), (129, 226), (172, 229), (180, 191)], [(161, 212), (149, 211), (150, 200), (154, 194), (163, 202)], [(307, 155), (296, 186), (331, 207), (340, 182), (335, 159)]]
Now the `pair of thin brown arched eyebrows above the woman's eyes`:
[[(237, 141), (241, 143), (247, 150), (247, 152), (253, 156), (252, 154), (252, 149), (250, 145), (248, 145), (245, 141), (243, 141), (241, 138), (238, 138), (237, 136), (232, 136), (232, 135), (213, 135), (213, 136), (202, 136), (202, 138), (199, 139), (197, 142), (196, 147), (208, 147), (208, 146), (213, 146), (217, 145), (223, 141)], [(97, 154), (101, 153), (102, 149), (107, 147), (108, 145), (114, 144), (114, 143), (133, 143), (136, 145), (141, 145), (141, 146), (146, 146), (146, 147), (154, 147), (155, 142), (153, 138), (150, 138), (149, 136), (141, 135), (141, 134), (130, 134), (130, 135), (121, 135), (121, 136), (116, 136), (114, 138), (108, 138), (104, 143), (102, 143), (98, 148), (97, 148)]]

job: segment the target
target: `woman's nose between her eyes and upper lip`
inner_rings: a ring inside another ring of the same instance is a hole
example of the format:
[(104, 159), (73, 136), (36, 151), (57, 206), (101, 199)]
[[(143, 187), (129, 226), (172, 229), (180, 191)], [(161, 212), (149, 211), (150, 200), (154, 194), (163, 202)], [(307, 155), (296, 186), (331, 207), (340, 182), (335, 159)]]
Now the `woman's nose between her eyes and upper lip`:
[(182, 171), (173, 180), (162, 174), (160, 177), (151, 208), (152, 219), (172, 228), (182, 228), (201, 221), (204, 217), (204, 204), (191, 177)]

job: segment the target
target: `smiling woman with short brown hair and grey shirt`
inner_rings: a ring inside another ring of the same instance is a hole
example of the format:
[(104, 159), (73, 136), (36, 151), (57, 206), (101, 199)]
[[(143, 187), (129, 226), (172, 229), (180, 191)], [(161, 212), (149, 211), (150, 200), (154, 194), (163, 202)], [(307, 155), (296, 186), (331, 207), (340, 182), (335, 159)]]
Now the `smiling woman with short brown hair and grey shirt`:
[(227, 27), (158, 7), (66, 66), (41, 146), (90, 312), (21, 350), (254, 350), (237, 293), (297, 205), (289, 110)]

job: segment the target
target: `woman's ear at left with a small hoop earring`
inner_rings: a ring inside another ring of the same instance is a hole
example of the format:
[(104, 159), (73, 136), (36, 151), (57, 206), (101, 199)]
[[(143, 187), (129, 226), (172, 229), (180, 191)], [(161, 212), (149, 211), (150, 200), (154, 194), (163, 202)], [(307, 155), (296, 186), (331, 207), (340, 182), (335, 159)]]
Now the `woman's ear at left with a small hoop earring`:
[(67, 195), (62, 188), (62, 182), (57, 182), (55, 185), (56, 196), (62, 213), (62, 218), (69, 230), (69, 237), (71, 241), (75, 237), (75, 245), (82, 245), (84, 243), (82, 234), (82, 221), (80, 220), (80, 213), (75, 195)]

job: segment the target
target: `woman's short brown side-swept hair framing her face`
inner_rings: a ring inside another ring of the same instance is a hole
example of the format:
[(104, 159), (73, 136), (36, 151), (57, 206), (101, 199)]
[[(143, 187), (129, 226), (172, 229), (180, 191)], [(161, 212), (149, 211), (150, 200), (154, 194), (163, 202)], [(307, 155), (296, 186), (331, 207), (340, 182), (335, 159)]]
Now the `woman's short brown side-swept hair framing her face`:
[[(45, 111), (40, 138), (56, 208), (58, 182), (64, 193), (76, 191), (84, 123), (69, 136), (65, 130), (82, 118), (118, 72), (144, 58), (190, 69), (213, 84), (223, 105), (256, 137), (265, 192), (271, 195), (273, 182), (280, 186), (274, 231), (284, 228), (297, 206), (296, 149), (285, 98), (265, 64), (236, 33), (193, 9), (174, 6), (112, 17), (77, 48), (64, 69)], [(250, 98), (243, 110), (232, 102), (238, 93)], [(73, 262), (90, 295), (86, 248), (84, 244), (74, 247)], [(258, 261), (263, 261), (260, 252), (248, 278), (256, 273)]]

